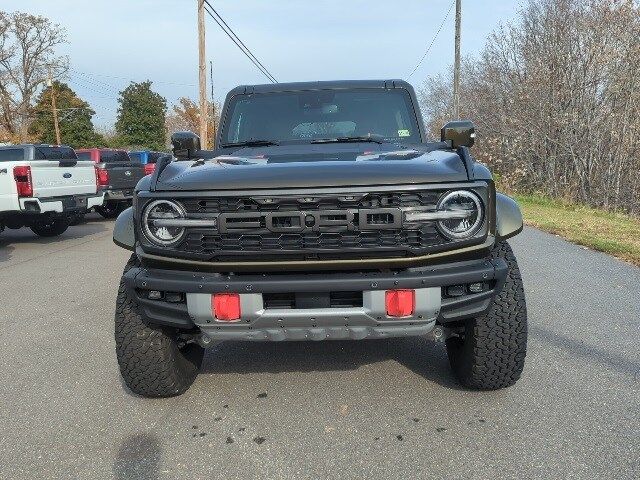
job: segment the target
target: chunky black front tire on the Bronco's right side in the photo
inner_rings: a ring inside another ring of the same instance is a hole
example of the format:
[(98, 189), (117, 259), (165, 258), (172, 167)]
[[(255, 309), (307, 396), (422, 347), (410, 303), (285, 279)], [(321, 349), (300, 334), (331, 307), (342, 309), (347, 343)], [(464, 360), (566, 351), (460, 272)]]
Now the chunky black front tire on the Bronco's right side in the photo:
[(507, 280), (489, 311), (467, 320), (460, 337), (447, 339), (453, 372), (469, 388), (497, 390), (515, 384), (527, 352), (527, 305), (516, 257), (507, 242), (498, 243), (492, 258), (504, 258)]

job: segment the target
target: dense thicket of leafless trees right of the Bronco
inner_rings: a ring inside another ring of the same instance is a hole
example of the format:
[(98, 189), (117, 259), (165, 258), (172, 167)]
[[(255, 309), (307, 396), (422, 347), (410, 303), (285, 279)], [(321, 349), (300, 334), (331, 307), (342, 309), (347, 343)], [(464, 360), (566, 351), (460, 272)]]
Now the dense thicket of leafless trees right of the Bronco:
[[(640, 213), (639, 14), (633, 0), (529, 0), (466, 59), (461, 108), (503, 185)], [(432, 127), (450, 92), (425, 82)]]

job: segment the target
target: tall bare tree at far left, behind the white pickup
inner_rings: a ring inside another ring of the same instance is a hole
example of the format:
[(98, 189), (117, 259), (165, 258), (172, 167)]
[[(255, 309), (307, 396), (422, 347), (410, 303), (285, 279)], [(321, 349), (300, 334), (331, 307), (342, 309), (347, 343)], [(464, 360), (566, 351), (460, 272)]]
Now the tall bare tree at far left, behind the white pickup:
[(29, 110), (49, 72), (60, 77), (67, 58), (56, 54), (66, 33), (45, 17), (0, 11), (0, 128), (26, 140)]

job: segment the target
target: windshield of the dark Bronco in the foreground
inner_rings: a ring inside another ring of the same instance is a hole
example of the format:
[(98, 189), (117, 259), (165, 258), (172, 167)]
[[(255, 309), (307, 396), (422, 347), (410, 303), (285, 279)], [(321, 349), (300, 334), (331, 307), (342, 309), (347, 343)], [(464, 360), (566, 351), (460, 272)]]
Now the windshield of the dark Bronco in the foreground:
[(409, 92), (317, 90), (238, 95), (229, 104), (222, 144), (375, 136), (420, 143)]

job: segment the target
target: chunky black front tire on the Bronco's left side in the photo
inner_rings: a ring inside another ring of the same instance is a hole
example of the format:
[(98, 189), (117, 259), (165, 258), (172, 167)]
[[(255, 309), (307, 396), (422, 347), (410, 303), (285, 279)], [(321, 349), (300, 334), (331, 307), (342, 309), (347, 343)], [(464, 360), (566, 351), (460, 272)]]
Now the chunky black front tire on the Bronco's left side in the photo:
[[(134, 255), (125, 273), (138, 266)], [(178, 331), (147, 325), (138, 304), (120, 281), (116, 301), (115, 338), (120, 373), (132, 392), (145, 397), (172, 397), (184, 393), (193, 383), (203, 349), (189, 343), (180, 348)]]

